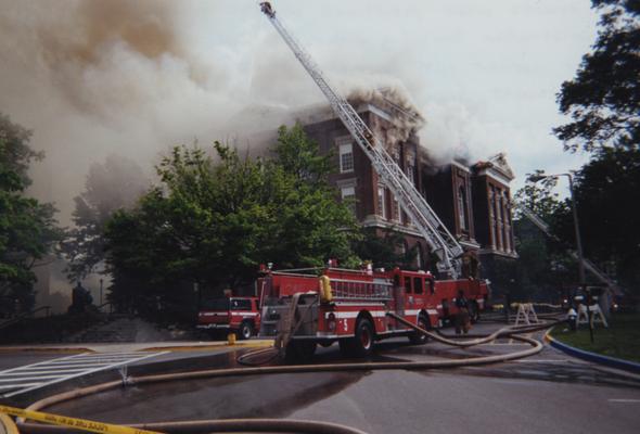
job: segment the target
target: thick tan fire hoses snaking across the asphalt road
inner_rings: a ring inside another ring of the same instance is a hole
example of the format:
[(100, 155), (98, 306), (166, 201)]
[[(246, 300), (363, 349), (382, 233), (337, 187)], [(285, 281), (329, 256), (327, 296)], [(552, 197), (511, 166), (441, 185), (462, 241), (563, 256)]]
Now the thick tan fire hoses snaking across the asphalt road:
[[(387, 314), (395, 317), (394, 314)], [(338, 372), (338, 371), (374, 371), (374, 370), (423, 370), (436, 368), (457, 368), (468, 366), (488, 365), (508, 360), (514, 360), (523, 357), (533, 356), (542, 350), (542, 344), (534, 339), (519, 336), (521, 333), (532, 333), (535, 331), (548, 329), (561, 321), (552, 323), (546, 322), (535, 326), (517, 326), (502, 328), (487, 336), (478, 336), (477, 339), (466, 341), (456, 341), (443, 335), (424, 330), (400, 317), (396, 317), (400, 322), (411, 327), (419, 333), (425, 334), (437, 342), (457, 347), (470, 347), (494, 341), (498, 337), (511, 337), (532, 345), (530, 348), (519, 350), (515, 353), (473, 357), (469, 359), (456, 360), (426, 360), (426, 361), (364, 361), (364, 362), (348, 362), (348, 363), (323, 363), (323, 365), (295, 365), (295, 366), (271, 366), (271, 367), (249, 367), (249, 368), (231, 368), (231, 369), (209, 369), (191, 372), (177, 372), (168, 374), (154, 374), (142, 376), (129, 376), (123, 381), (111, 381), (102, 384), (97, 384), (79, 390), (61, 393), (47, 397), (31, 404), (27, 410), (37, 411), (43, 408), (61, 404), (64, 401), (81, 398), (85, 396), (115, 390), (126, 385), (143, 385), (153, 383), (164, 383), (180, 380), (196, 380), (196, 379), (213, 379), (226, 376), (244, 376), (244, 375), (263, 375), (263, 374), (278, 374), (278, 373), (302, 373), (302, 372)], [(473, 336), (475, 337), (475, 336)], [(271, 348), (268, 348), (271, 350)], [(248, 355), (265, 353), (265, 349), (252, 352)], [(18, 419), (18, 427), (23, 433), (33, 434), (50, 434), (62, 433), (68, 431), (65, 426), (52, 426), (38, 423), (27, 423)], [(281, 433), (345, 433), (345, 434), (362, 434), (362, 431), (328, 422), (316, 421), (300, 421), (300, 420), (283, 420), (283, 419), (229, 419), (229, 420), (201, 420), (201, 421), (179, 421), (179, 422), (154, 422), (144, 424), (127, 424), (137, 430), (148, 430), (164, 433), (232, 433), (232, 432), (281, 432)]]

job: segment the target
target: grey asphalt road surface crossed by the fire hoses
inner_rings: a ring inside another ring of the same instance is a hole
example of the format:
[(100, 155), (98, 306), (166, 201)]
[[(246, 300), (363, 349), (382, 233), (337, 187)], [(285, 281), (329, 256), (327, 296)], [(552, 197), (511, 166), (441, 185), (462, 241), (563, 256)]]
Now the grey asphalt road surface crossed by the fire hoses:
[[(483, 326), (477, 329), (491, 329)], [(503, 340), (470, 349), (440, 344), (379, 346), (376, 360), (463, 358), (523, 349)], [(213, 367), (234, 366), (235, 353)], [(184, 356), (181, 356), (184, 357)], [(187, 369), (189, 359), (183, 359)], [(317, 362), (341, 360), (337, 346)], [(272, 374), (133, 386), (64, 403), (51, 412), (113, 423), (219, 418), (292, 418), (344, 423), (368, 433), (637, 433), (640, 376), (546, 347), (487, 367), (428, 371)]]

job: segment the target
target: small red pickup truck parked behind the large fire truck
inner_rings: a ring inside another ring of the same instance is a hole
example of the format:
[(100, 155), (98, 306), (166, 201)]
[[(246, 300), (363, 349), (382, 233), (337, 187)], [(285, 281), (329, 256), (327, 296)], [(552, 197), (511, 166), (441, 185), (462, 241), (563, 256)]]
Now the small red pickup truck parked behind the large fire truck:
[(257, 297), (221, 297), (205, 301), (197, 314), (197, 329), (213, 336), (235, 333), (238, 339), (249, 339), (260, 329)]

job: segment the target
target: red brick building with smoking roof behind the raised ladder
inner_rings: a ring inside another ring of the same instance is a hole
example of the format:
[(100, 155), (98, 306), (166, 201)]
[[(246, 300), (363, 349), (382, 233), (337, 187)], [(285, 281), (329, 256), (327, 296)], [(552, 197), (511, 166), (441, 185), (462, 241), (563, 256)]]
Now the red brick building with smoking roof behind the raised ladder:
[[(406, 113), (398, 112), (397, 105), (360, 102), (356, 110), (464, 250), (478, 255), (483, 277), (494, 278), (497, 256), (508, 260), (516, 257), (509, 206), (509, 183), (514, 176), (503, 154), (473, 165), (455, 161), (434, 167), (419, 138), (400, 118)], [(381, 232), (394, 229), (401, 233), (405, 248), (417, 250), (415, 268), (435, 271), (426, 242), (341, 120), (317, 107), (298, 113), (298, 119), (321, 152), (333, 152), (337, 171), (331, 175), (331, 181), (341, 199), (355, 200), (354, 213), (360, 224)]]

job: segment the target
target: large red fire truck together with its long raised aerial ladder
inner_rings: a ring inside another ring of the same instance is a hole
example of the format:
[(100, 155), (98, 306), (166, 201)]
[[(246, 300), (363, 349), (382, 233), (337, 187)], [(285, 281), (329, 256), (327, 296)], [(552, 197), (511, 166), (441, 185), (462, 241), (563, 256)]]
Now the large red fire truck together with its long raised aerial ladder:
[(276, 347), (286, 356), (305, 358), (316, 345), (338, 342), (355, 356), (370, 354), (373, 341), (406, 335), (413, 343), (425, 336), (407, 323), (423, 329), (439, 327), (458, 312), (456, 297), (469, 301), (470, 316), (485, 308), (488, 289), (484, 281), (459, 279), (464, 253), (424, 197), (385, 150), (356, 110), (330, 86), (310, 55), (278, 20), (269, 2), (260, 2), (284, 42), (320, 88), (335, 115), (370, 159), (382, 183), (395, 195), (438, 257), (436, 281), (425, 271), (346, 270), (330, 264), (321, 270), (272, 271), (263, 268), (257, 288), (263, 303), (260, 334), (274, 336)]

